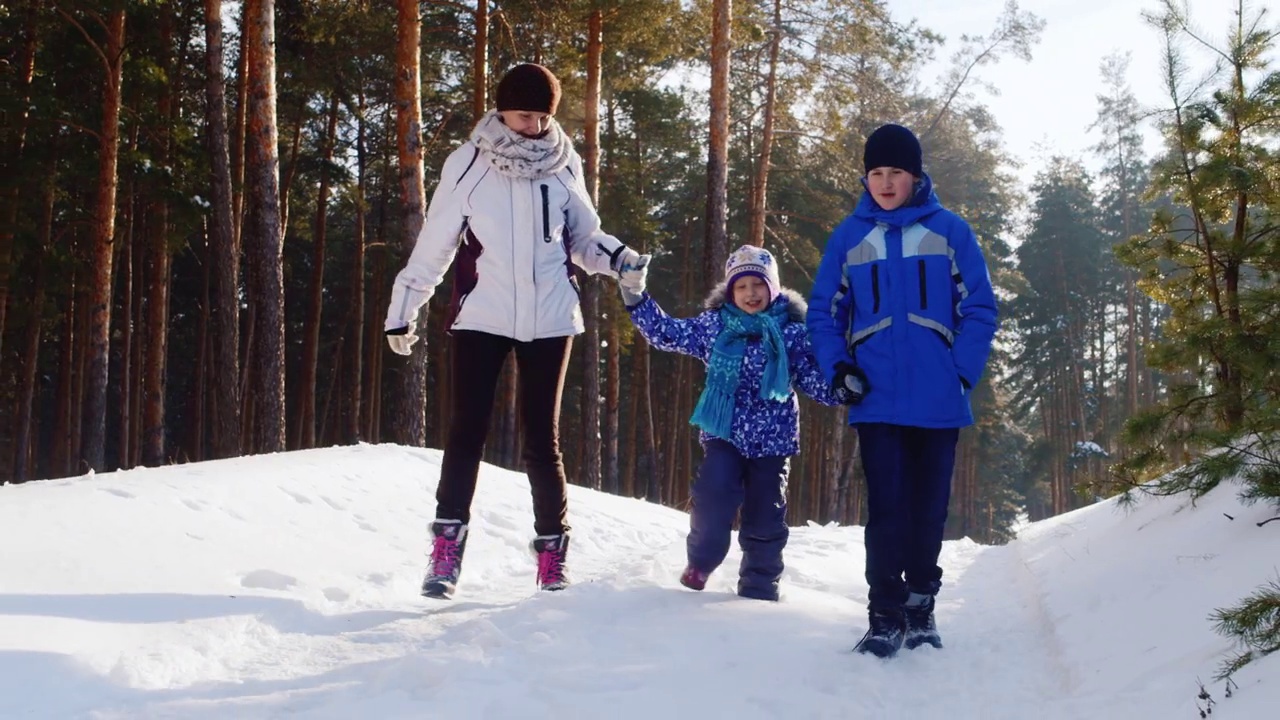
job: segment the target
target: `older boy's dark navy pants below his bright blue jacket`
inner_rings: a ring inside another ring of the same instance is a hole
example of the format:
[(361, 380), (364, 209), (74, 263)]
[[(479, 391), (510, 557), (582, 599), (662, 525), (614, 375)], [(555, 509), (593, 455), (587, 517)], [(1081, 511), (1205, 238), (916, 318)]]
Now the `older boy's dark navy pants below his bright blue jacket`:
[(951, 500), (957, 428), (859, 423), (867, 473), (867, 584), (874, 610), (893, 610), (909, 592), (942, 587), (942, 532)]

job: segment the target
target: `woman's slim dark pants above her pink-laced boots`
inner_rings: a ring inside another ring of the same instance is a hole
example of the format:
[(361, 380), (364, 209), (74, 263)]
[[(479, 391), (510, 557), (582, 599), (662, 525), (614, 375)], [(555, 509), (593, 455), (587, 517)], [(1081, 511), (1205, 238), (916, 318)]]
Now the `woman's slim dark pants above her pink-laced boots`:
[(471, 521), (476, 474), (489, 434), (498, 375), (512, 350), (520, 370), (520, 421), (525, 433), (525, 471), (534, 495), (534, 529), (539, 536), (568, 530), (564, 462), (559, 451), (559, 406), (568, 369), (571, 337), (520, 342), (475, 331), (453, 332), (453, 404), (444, 446), (435, 516)]

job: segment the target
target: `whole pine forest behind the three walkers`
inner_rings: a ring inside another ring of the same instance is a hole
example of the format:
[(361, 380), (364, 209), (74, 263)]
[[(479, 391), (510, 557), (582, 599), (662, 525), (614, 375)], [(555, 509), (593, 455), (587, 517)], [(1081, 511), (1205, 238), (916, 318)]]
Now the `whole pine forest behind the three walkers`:
[[(0, 479), (440, 447), (466, 392), (452, 277), (410, 359), (381, 337), (390, 281), (444, 156), (502, 73), (539, 61), (605, 229), (654, 255), (675, 315), (740, 243), (808, 293), (867, 135), (918, 132), (1001, 300), (948, 537), (1005, 542), (1020, 518), (1245, 466), (1280, 496), (1275, 15), (1152, 0), (1161, 77), (1132, 81), (1124, 54), (1078, 68), (1098, 78), (1096, 146), (1041, 159), (1025, 191), (980, 83), (1043, 22), (1014, 1), (992, 20), (947, 44), (883, 0), (3, 0)], [(684, 506), (701, 366), (650, 352), (609, 279), (584, 278), (584, 314), (571, 482)], [(516, 388), (508, 366), (486, 448), (507, 468)], [(856, 434), (803, 402), (788, 519), (863, 523)]]

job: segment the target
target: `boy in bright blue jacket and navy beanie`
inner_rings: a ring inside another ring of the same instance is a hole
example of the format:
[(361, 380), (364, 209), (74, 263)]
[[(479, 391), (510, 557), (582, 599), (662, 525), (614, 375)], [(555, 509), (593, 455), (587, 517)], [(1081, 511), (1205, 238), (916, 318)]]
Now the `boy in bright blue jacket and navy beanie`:
[(827, 241), (806, 323), (850, 405), (867, 474), (870, 628), (855, 650), (891, 657), (904, 644), (942, 647), (938, 555), (996, 297), (973, 231), (938, 202), (911, 131), (873, 132), (863, 169), (865, 192)]

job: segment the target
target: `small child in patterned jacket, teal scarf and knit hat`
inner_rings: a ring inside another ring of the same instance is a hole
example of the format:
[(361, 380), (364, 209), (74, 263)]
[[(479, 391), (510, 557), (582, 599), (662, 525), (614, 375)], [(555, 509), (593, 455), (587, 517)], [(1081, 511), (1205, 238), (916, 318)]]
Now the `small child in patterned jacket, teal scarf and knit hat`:
[(737, 594), (776, 601), (788, 534), (787, 470), (800, 451), (799, 404), (791, 388), (837, 404), (809, 347), (804, 299), (781, 287), (773, 256), (750, 245), (730, 256), (724, 281), (694, 318), (663, 313), (640, 281), (621, 283), (640, 334), (658, 350), (707, 364), (707, 386), (690, 419), (701, 428), (704, 456), (692, 488), (689, 566), (680, 583), (695, 591), (707, 585), (728, 555), (733, 515), (741, 507)]

